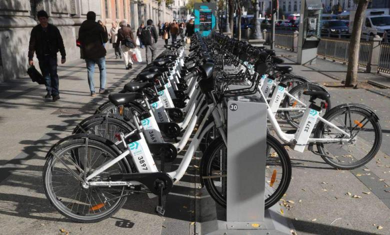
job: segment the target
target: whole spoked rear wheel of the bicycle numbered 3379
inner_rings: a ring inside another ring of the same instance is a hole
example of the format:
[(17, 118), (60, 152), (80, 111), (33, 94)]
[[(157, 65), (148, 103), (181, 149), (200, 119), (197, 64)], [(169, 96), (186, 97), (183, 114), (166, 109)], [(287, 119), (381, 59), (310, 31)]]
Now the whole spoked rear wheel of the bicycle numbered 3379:
[[(364, 165), (378, 152), (382, 132), (378, 120), (366, 108), (336, 106), (323, 118), (348, 133), (349, 141), (317, 143), (318, 152), (329, 165), (339, 169), (353, 169)], [(347, 138), (331, 125), (320, 122), (314, 138)]]

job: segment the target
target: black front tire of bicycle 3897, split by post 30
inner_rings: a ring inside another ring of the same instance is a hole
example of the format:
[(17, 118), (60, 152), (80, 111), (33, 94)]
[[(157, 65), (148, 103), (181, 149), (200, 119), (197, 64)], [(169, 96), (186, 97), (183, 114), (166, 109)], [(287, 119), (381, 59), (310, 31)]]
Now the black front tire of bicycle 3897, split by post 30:
[[(274, 138), (272, 135), (267, 135), (267, 145), (271, 145), (271, 147), (276, 151), (277, 155), (280, 157), (281, 167), (282, 167), (282, 177), (280, 183), (276, 190), (265, 199), (265, 209), (271, 207), (275, 203), (279, 201), (279, 199), (283, 196), (285, 191), (288, 188), (289, 182), (291, 180), (291, 162), (288, 156), (287, 151), (284, 147), (279, 143), (279, 141)], [(211, 144), (205, 150), (201, 162), (200, 162), (200, 173), (201, 180), (203, 185), (206, 187), (210, 196), (221, 206), (226, 206), (226, 197), (223, 196), (215, 187), (215, 185), (211, 182), (210, 178), (203, 178), (203, 176), (210, 176), (211, 168), (215, 169), (212, 165), (212, 156), (214, 152), (216, 152), (221, 147), (224, 147), (224, 142), (221, 137), (216, 138), (211, 142)], [(224, 193), (226, 194), (226, 193)]]

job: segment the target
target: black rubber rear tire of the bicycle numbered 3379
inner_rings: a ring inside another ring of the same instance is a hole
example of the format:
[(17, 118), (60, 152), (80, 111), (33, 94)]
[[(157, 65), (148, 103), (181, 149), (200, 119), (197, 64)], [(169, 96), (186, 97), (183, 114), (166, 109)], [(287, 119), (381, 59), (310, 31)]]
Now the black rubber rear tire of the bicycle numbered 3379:
[[(323, 116), (323, 118), (326, 119), (327, 121), (331, 121), (339, 114), (343, 114), (343, 113), (346, 114), (347, 111), (350, 111), (351, 113), (360, 113), (361, 115), (369, 117), (370, 123), (372, 125), (373, 130), (374, 130), (375, 137), (373, 140), (372, 147), (367, 152), (367, 154), (364, 157), (362, 157), (360, 160), (358, 160), (352, 164), (345, 164), (345, 161), (344, 162), (335, 161), (333, 158), (328, 157), (328, 154), (326, 153), (326, 147), (324, 146), (325, 144), (317, 142), (316, 143), (317, 150), (318, 150), (319, 154), (321, 154), (322, 159), (326, 163), (328, 163), (329, 165), (331, 165), (335, 168), (338, 168), (338, 169), (354, 169), (354, 168), (357, 168), (359, 166), (366, 164), (378, 152), (378, 150), (380, 148), (381, 141), (382, 141), (382, 131), (381, 131), (379, 121), (376, 120), (375, 117), (372, 115), (372, 112), (368, 111), (366, 108), (362, 108), (362, 107), (354, 106), (354, 105), (345, 106), (344, 104), (341, 104), (341, 105), (338, 105), (338, 106), (332, 108), (328, 112), (326, 112), (326, 114)], [(314, 138), (321, 138), (324, 134), (325, 129), (326, 129), (326, 125), (323, 122), (320, 122), (314, 130)], [(370, 138), (370, 140), (372, 140), (372, 139)], [(361, 147), (361, 146), (359, 145), (359, 147)]]

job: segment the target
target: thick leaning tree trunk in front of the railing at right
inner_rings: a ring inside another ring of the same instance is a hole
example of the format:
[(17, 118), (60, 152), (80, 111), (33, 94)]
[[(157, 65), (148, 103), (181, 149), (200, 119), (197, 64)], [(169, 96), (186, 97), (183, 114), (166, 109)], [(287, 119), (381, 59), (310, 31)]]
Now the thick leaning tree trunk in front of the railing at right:
[(345, 77), (345, 87), (357, 87), (357, 66), (359, 61), (361, 27), (365, 19), (365, 10), (369, 0), (359, 0), (353, 19), (352, 34), (348, 49), (348, 69)]

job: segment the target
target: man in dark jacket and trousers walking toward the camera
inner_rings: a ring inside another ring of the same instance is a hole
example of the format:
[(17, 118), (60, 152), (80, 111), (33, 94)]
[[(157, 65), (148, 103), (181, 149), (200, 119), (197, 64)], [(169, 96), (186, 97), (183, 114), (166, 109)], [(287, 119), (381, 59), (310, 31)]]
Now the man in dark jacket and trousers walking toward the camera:
[(46, 11), (38, 11), (37, 17), (39, 24), (32, 28), (28, 43), (28, 64), (30, 66), (34, 64), (32, 58), (35, 52), (40, 71), (45, 79), (47, 93), (44, 97), (52, 97), (52, 100), (56, 101), (59, 99), (57, 52), (61, 53), (61, 63), (64, 63), (66, 61), (65, 47), (58, 28), (47, 22)]

